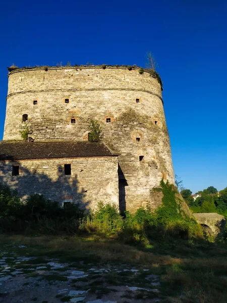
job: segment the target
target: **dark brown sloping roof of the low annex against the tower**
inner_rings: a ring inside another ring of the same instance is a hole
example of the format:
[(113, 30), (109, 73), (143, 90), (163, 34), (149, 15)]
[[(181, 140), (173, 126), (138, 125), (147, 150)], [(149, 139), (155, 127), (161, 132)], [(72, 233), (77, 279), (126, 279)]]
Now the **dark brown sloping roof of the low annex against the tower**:
[(118, 156), (103, 143), (73, 141), (1, 141), (0, 160)]

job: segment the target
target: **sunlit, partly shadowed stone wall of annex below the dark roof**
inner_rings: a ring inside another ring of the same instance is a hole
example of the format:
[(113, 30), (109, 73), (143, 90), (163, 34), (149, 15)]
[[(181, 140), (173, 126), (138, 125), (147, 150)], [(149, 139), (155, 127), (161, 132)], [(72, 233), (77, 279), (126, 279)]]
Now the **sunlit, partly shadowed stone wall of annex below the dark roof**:
[[(71, 175), (64, 164), (71, 164)], [(12, 176), (13, 165), (20, 165), (19, 176)], [(72, 200), (95, 209), (102, 200), (119, 206), (117, 157), (1, 161), (0, 183), (24, 198), (39, 193), (60, 204)]]

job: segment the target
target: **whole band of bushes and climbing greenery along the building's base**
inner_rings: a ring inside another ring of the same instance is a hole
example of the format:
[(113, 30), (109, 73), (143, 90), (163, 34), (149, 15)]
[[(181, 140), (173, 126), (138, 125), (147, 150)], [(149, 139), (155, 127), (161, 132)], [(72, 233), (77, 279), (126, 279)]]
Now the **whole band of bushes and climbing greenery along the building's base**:
[(16, 192), (0, 186), (0, 229), (19, 233), (101, 233), (115, 235), (126, 243), (148, 244), (154, 239), (202, 237), (197, 223), (181, 210), (172, 185), (162, 180), (163, 205), (153, 210), (151, 205), (139, 208), (133, 215), (119, 214), (110, 204), (100, 202), (95, 212), (85, 215), (78, 205), (61, 208), (58, 203), (33, 195), (22, 203)]

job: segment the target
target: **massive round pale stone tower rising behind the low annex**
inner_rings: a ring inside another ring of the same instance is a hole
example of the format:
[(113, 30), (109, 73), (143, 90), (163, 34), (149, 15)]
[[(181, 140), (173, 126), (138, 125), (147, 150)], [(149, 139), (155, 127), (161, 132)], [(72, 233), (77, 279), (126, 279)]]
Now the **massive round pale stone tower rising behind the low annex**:
[(25, 130), (35, 141), (84, 141), (98, 120), (102, 141), (120, 154), (120, 209), (135, 211), (154, 203), (162, 178), (174, 183), (161, 90), (157, 74), (138, 67), (9, 68), (4, 140)]

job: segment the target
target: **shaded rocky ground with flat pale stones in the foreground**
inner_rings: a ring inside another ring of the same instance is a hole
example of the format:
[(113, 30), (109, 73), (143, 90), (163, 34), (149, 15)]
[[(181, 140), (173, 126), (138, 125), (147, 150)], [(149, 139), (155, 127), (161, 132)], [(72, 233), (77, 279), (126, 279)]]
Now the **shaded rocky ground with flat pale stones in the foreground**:
[[(149, 268), (30, 256), (29, 246), (0, 249), (0, 302), (160, 302), (159, 276)], [(80, 258), (81, 259), (81, 258)]]

